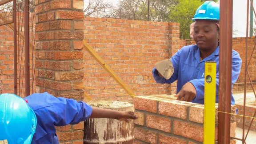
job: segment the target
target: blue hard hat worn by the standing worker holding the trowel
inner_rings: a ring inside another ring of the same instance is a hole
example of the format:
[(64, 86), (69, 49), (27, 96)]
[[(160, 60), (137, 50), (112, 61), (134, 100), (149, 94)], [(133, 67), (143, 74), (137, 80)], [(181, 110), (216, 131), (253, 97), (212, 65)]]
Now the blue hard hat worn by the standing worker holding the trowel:
[(205, 1), (204, 4), (200, 5), (196, 10), (193, 22), (196, 20), (220, 20), (220, 4), (214, 1)]

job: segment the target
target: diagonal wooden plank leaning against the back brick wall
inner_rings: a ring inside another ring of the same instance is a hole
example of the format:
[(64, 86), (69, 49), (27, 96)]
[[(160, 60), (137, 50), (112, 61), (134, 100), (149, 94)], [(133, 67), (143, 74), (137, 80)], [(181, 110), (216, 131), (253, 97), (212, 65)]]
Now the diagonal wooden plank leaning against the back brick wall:
[(84, 41), (84, 48), (90, 53), (90, 55), (92, 57), (95, 58), (95, 60), (110, 74), (110, 76), (116, 80), (116, 82), (122, 87), (124, 88), (124, 90), (132, 97), (134, 98), (135, 93), (132, 92), (132, 90), (126, 85), (124, 84), (123, 80), (120, 79), (119, 76), (117, 76), (116, 72), (114, 72), (109, 66), (108, 64), (106, 64), (104, 62), (104, 60), (101, 59), (101, 57), (95, 52), (95, 50), (89, 45), (87, 44), (87, 42), (85, 40)]

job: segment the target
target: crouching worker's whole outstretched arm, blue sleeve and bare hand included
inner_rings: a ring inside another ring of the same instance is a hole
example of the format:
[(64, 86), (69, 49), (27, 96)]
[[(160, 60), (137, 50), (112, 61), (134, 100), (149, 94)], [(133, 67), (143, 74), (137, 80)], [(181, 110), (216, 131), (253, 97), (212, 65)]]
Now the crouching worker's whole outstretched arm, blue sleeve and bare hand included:
[[(52, 96), (53, 108), (52, 117), (55, 118), (55, 126), (65, 126), (68, 124), (78, 124), (88, 118), (112, 118), (117, 120), (136, 119), (133, 112), (130, 111), (115, 111), (104, 108), (95, 108), (83, 101), (77, 102), (73, 99), (66, 99), (64, 97)], [(57, 113), (57, 115), (54, 115)], [(46, 116), (47, 117), (47, 116)]]

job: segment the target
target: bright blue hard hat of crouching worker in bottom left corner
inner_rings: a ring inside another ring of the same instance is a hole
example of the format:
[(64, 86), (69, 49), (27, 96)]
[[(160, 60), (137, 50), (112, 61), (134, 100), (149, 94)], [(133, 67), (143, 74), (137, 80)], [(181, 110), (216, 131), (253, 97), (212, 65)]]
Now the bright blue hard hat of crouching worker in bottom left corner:
[(0, 141), (31, 144), (36, 131), (36, 115), (21, 97), (0, 95)]

